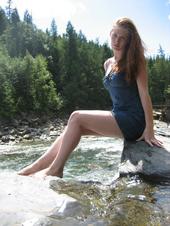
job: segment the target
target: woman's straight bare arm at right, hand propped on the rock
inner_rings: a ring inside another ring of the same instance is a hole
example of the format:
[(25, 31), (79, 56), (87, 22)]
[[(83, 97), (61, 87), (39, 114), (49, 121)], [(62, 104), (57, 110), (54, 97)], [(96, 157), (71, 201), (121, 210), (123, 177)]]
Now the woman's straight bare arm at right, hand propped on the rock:
[(149, 145), (153, 146), (162, 146), (162, 142), (157, 140), (154, 136), (154, 124), (153, 124), (153, 109), (152, 109), (152, 102), (148, 91), (148, 78), (146, 68), (142, 67), (140, 72), (137, 76), (137, 85), (139, 90), (139, 96), (141, 99), (141, 103), (143, 106), (144, 114), (145, 114), (145, 121), (146, 127), (143, 132), (142, 137), (139, 139), (144, 139)]

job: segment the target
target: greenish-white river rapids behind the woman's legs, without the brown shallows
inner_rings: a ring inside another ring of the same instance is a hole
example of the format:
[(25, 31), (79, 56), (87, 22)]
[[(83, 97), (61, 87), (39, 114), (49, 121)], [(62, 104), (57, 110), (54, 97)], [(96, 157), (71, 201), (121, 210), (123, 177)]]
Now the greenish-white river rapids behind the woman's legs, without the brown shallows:
[[(50, 143), (27, 143), (0, 146), (0, 169), (17, 171), (44, 153)], [(64, 178), (109, 182), (117, 172), (122, 140), (82, 138), (66, 163)]]

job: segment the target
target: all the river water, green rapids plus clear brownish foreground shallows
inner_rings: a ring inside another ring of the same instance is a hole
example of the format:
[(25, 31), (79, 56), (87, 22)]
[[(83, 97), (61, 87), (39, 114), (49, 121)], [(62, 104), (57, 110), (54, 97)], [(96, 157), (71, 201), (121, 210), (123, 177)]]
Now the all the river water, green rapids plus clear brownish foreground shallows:
[[(20, 170), (49, 146), (49, 142), (0, 146), (0, 172)], [(54, 190), (78, 199), (106, 225), (170, 225), (169, 184), (149, 184), (138, 177), (113, 183), (122, 148), (121, 139), (82, 138), (66, 163), (65, 182)]]

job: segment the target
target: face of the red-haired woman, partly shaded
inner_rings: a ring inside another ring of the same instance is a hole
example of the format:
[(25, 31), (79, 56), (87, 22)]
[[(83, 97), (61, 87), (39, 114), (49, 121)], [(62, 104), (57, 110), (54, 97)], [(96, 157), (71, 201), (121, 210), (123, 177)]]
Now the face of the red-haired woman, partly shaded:
[(113, 27), (110, 32), (111, 47), (113, 51), (123, 51), (129, 38), (129, 32), (119, 26)]

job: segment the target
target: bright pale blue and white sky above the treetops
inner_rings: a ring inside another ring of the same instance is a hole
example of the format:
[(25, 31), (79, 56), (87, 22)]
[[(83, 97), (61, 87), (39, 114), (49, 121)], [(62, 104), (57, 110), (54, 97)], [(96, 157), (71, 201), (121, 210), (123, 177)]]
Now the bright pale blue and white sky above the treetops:
[[(99, 40), (110, 45), (109, 33), (113, 21), (129, 17), (135, 23), (144, 41), (147, 54), (156, 55), (159, 46), (170, 55), (170, 0), (13, 0), (23, 20), (25, 10), (33, 17), (37, 28), (50, 29), (55, 19), (58, 34), (66, 31), (71, 21), (76, 32), (80, 30), (88, 40)], [(0, 0), (5, 9), (7, 0)]]

